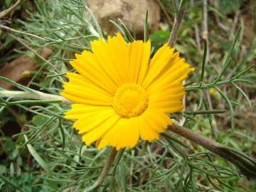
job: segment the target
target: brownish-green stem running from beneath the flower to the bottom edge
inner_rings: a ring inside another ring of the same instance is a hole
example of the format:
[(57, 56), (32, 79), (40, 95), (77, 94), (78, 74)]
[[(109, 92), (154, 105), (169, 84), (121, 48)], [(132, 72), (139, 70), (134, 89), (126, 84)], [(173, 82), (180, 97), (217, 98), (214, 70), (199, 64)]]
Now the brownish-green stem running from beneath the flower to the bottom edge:
[(117, 155), (117, 149), (114, 147), (110, 153), (109, 158), (107, 159), (107, 162), (105, 163), (105, 166), (102, 169), (102, 172), (100, 173), (100, 176), (97, 178), (97, 181), (95, 181), (95, 183), (89, 188), (86, 188), (84, 192), (97, 190), (97, 188), (103, 183), (105, 177), (107, 176), (108, 171), (110, 171), (110, 167), (116, 155)]

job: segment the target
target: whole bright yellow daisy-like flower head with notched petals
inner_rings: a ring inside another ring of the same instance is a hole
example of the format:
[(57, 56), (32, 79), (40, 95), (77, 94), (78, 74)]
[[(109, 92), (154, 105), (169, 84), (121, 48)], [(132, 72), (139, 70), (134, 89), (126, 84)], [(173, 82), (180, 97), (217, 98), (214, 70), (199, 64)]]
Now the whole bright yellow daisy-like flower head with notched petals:
[(98, 149), (159, 139), (171, 124), (167, 114), (183, 109), (181, 82), (193, 68), (167, 44), (149, 61), (150, 41), (127, 44), (119, 33), (91, 47), (70, 61), (79, 74), (67, 73), (69, 82), (63, 82), (60, 95), (75, 103), (65, 118), (76, 119), (82, 141)]

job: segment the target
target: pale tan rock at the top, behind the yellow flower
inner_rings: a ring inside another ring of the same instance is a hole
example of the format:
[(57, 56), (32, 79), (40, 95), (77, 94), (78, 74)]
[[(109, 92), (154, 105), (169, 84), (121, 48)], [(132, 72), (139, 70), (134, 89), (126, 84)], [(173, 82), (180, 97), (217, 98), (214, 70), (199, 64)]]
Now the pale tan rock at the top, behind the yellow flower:
[(159, 4), (154, 0), (85, 1), (92, 13), (95, 14), (102, 30), (108, 34), (118, 31), (117, 27), (110, 23), (110, 19), (117, 22), (117, 18), (121, 18), (130, 30), (133, 27), (137, 34), (143, 34), (143, 19), (146, 16), (146, 10), (149, 11), (149, 30), (155, 31), (159, 28), (160, 8)]

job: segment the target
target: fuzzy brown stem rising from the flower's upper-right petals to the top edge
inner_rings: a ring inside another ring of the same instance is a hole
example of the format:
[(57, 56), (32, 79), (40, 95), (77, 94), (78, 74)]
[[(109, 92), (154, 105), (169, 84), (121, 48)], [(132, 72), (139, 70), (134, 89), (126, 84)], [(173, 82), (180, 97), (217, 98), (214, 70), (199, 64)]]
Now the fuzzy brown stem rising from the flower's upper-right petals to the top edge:
[(181, 4), (180, 4), (179, 9), (178, 9), (178, 14), (174, 19), (174, 26), (171, 29), (171, 35), (170, 35), (169, 40), (168, 40), (168, 45), (171, 48), (174, 47), (174, 43), (175, 43), (176, 38), (178, 36), (178, 29), (181, 26), (181, 21), (182, 21), (184, 13), (186, 11), (186, 4), (187, 4), (187, 0), (182, 0), (181, 1)]

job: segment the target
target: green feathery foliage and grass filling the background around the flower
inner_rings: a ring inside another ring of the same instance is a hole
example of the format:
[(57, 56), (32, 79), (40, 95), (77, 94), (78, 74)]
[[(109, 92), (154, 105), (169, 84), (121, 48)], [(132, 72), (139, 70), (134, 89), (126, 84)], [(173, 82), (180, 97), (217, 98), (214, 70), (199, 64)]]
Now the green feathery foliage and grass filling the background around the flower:
[[(154, 51), (167, 42), (178, 7), (178, 1), (158, 2), (161, 27), (149, 35)], [(1, 1), (1, 10), (12, 4), (11, 0)], [(188, 1), (174, 46), (196, 68), (187, 83), (183, 123), (255, 159), (256, 73), (250, 66), (256, 61), (256, 2), (208, 1), (208, 16), (203, 9), (203, 1)], [(24, 71), (19, 80), (21, 85), (11, 82), (16, 87), (10, 89), (27, 91), (30, 87), (55, 95), (67, 80), (65, 72), (73, 70), (68, 64), (73, 54), (90, 50), (90, 41), (101, 33), (107, 35), (82, 1), (77, 0), (23, 1), (8, 18), (1, 19), (0, 25), (0, 71), (4, 63), (24, 55), (39, 66)], [(122, 23), (119, 26), (125, 33)], [(230, 45), (239, 26), (240, 35), (231, 53)], [(201, 70), (203, 40), (208, 42), (205, 70)], [(38, 57), (46, 47), (52, 52), (50, 56)], [(232, 59), (227, 63), (229, 54)], [(218, 88), (210, 86), (222, 72), (225, 73), (220, 82), (233, 77), (236, 81), (220, 83)], [(198, 82), (207, 89), (193, 88)], [(70, 128), (72, 122), (63, 119), (68, 105), (0, 99), (0, 191), (83, 191), (92, 185), (111, 149), (97, 151), (81, 143), (80, 136)], [(213, 110), (220, 113), (210, 114)], [(198, 111), (208, 112), (198, 114)], [(174, 114), (174, 118), (181, 119), (181, 114)], [(233, 164), (173, 134), (120, 151), (100, 190), (256, 191), (256, 184)]]

